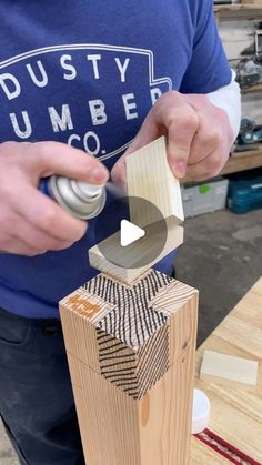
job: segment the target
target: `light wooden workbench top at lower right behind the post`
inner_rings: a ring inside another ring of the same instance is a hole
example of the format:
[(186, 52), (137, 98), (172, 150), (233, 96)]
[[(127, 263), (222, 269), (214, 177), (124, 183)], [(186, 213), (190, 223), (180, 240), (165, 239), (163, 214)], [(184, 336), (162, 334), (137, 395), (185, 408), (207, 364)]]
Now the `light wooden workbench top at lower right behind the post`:
[[(204, 350), (259, 361), (255, 392), (199, 380)], [(253, 463), (262, 464), (262, 277), (198, 350), (195, 387), (204, 391), (211, 402), (209, 429), (253, 458)], [(192, 436), (190, 463), (216, 465), (230, 461)]]

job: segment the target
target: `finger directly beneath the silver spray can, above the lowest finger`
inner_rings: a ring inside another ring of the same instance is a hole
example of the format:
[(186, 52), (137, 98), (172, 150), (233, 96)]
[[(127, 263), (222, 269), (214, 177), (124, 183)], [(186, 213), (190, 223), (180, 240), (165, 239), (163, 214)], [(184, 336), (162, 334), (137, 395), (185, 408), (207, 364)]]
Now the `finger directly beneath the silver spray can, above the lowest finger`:
[(20, 185), (20, 196), (12, 195), (9, 202), (26, 221), (53, 239), (75, 242), (87, 231), (85, 221), (73, 218), (31, 185), (26, 184), (23, 189)]

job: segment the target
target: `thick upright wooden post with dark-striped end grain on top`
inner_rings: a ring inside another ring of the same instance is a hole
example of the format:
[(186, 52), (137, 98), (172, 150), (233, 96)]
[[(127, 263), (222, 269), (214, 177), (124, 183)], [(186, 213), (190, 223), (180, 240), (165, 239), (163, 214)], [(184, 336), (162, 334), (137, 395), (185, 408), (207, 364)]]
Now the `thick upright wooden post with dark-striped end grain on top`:
[(198, 292), (99, 274), (60, 302), (88, 465), (189, 464)]

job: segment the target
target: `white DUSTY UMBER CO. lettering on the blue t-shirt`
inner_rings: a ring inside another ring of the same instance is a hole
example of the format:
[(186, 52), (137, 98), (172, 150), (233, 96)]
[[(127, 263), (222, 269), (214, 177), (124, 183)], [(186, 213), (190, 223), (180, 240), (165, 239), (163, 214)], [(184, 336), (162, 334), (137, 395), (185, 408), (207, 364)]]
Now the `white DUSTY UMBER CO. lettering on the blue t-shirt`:
[[(33, 85), (40, 92), (40, 95), (41, 92), (47, 90), (46, 100), (49, 102), (53, 99), (53, 93), (57, 93), (56, 89), (58, 85), (61, 88), (61, 79), (72, 82), (75, 81), (79, 83), (79, 105), (82, 109), (88, 130), (83, 145), (87, 151), (98, 154), (100, 149), (98, 134), (92, 129), (107, 124), (110, 119), (113, 122), (114, 114), (109, 115), (108, 112), (108, 108), (112, 107), (112, 100), (114, 107), (118, 108), (118, 114), (125, 121), (139, 118), (139, 103), (137, 102), (134, 91), (121, 92), (121, 84), (125, 84), (124, 89), (127, 90), (127, 80), (131, 65), (130, 58), (111, 57), (111, 60), (107, 60), (107, 67), (104, 69), (100, 53), (87, 54), (84, 64), (87, 65), (87, 70), (81, 68), (80, 73), (80, 70), (73, 64), (73, 57), (71, 54), (62, 54), (57, 59), (53, 69), (51, 69), (50, 62), (39, 59), (30, 63), (20, 63), (17, 72), (12, 67), (10, 67), (12, 72), (2, 72), (0, 74), (0, 107), (3, 109), (4, 102), (7, 103), (9, 101), (13, 103), (19, 102), (17, 105), (18, 111), (14, 104), (12, 104), (14, 111), (8, 112), (4, 117), (9, 131), (12, 130), (19, 139), (27, 140), (38, 130), (32, 102), (28, 102), (28, 89)], [(118, 94), (110, 93), (109, 91), (109, 94), (104, 97), (103, 88), (104, 81), (108, 80), (107, 74), (110, 74), (111, 79), (115, 82), (119, 81), (120, 88)], [(159, 87), (150, 87), (149, 82), (147, 87), (148, 90), (145, 89), (145, 92), (148, 91), (149, 93), (149, 102), (154, 104), (162, 91)], [(100, 98), (100, 92), (103, 93), (102, 98)], [(74, 93), (73, 89), (72, 93)], [(79, 134), (73, 133), (78, 122), (73, 118), (73, 113), (75, 112), (73, 111), (72, 102), (64, 100), (61, 104), (56, 102), (56, 105), (50, 104), (47, 108), (42, 108), (41, 111), (43, 112), (43, 118), (46, 114), (48, 119), (47, 124), (50, 127), (51, 132), (70, 132), (68, 143), (71, 144), (73, 140), (79, 140)], [(89, 138), (93, 139), (93, 150), (90, 146), (91, 144), (88, 143)]]

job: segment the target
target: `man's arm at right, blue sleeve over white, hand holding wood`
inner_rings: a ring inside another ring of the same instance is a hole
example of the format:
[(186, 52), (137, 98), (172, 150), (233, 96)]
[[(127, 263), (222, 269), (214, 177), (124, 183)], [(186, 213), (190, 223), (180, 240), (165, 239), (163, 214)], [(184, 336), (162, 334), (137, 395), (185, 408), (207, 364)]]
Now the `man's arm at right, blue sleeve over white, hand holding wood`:
[[(161, 95), (145, 118), (128, 153), (160, 135), (168, 138), (174, 175), (195, 181), (220, 173), (240, 124), (240, 90), (232, 80), (213, 17), (212, 0), (192, 0), (194, 42), (180, 92)], [(125, 183), (124, 155), (112, 178)]]

